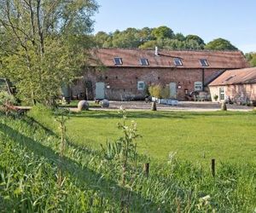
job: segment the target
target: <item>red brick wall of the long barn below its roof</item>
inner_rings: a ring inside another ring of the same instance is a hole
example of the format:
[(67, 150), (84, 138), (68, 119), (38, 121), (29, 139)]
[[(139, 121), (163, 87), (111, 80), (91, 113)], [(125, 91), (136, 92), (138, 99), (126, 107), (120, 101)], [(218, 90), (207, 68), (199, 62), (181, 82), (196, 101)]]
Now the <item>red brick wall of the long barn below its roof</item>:
[[(210, 78), (217, 69), (205, 69), (205, 79)], [(109, 100), (120, 100), (121, 95), (143, 95), (143, 91), (137, 89), (137, 82), (144, 81), (146, 84), (162, 85), (175, 82), (181, 85), (177, 89), (177, 99), (184, 100), (184, 89), (194, 91), (194, 83), (202, 81), (202, 69), (182, 69), (182, 68), (128, 68), (128, 67), (112, 67), (102, 72), (85, 72), (84, 79), (90, 80), (92, 83), (92, 94), (95, 95), (96, 82), (104, 82), (109, 89), (105, 89), (106, 98)], [(73, 84), (73, 95), (83, 91), (83, 81), (79, 80)]]

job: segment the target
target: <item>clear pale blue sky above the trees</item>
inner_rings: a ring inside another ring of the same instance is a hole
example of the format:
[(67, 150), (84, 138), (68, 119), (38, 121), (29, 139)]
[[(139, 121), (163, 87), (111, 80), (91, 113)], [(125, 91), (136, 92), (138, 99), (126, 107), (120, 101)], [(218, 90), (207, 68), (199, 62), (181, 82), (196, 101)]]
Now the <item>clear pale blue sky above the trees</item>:
[(127, 27), (168, 26), (209, 42), (230, 40), (245, 53), (256, 51), (256, 0), (96, 0), (95, 33)]

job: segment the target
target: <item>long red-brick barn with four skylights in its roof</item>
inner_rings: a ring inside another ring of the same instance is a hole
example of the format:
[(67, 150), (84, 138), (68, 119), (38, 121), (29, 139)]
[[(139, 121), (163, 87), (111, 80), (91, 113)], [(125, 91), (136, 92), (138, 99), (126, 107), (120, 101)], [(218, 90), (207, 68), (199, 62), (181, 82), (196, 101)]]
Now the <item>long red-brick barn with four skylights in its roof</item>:
[(224, 71), (248, 66), (241, 51), (94, 49), (91, 55), (90, 68), (71, 87), (72, 96), (137, 100), (147, 85), (160, 83), (169, 87), (171, 98), (185, 100)]

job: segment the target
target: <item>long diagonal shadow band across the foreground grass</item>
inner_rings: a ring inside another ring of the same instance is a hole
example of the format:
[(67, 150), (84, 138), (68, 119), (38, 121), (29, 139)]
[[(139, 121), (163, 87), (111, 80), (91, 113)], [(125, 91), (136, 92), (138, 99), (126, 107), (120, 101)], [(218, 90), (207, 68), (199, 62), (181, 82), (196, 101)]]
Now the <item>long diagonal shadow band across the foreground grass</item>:
[[(17, 130), (10, 128), (6, 124), (0, 124), (0, 131), (8, 136), (11, 140), (16, 141), (22, 147), (31, 152), (47, 158), (51, 163), (60, 164), (61, 171), (72, 176), (80, 187), (89, 188), (103, 193), (103, 197), (109, 199), (112, 203), (119, 204), (122, 194), (130, 193), (131, 195), (131, 211), (156, 212), (158, 207), (152, 200), (144, 199), (139, 193), (128, 192), (127, 189), (120, 187), (115, 181), (102, 177), (101, 174), (88, 168), (83, 168), (80, 164), (71, 158), (62, 157), (55, 153), (49, 147), (32, 140), (26, 135), (20, 134)], [(17, 140), (19, 139), (19, 140)]]

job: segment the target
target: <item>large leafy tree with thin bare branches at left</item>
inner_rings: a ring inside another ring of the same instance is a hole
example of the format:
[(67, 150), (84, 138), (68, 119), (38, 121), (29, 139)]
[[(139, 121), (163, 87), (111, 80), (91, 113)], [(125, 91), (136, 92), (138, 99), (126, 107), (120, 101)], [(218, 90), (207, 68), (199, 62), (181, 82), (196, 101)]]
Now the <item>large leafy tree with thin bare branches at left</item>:
[(50, 104), (84, 64), (94, 0), (1, 0), (1, 75), (26, 101)]

